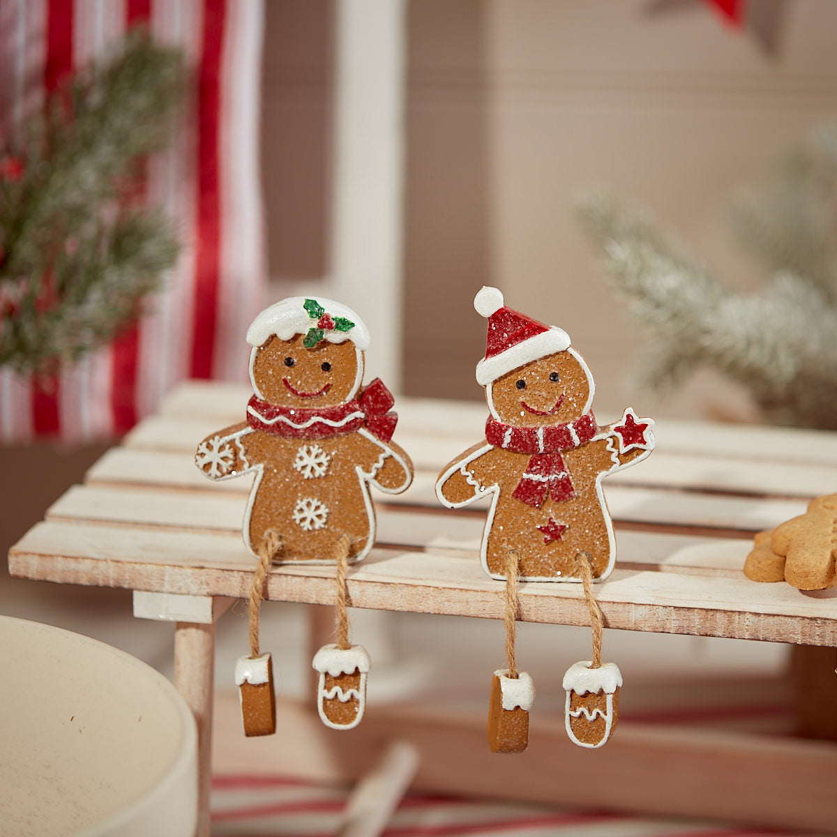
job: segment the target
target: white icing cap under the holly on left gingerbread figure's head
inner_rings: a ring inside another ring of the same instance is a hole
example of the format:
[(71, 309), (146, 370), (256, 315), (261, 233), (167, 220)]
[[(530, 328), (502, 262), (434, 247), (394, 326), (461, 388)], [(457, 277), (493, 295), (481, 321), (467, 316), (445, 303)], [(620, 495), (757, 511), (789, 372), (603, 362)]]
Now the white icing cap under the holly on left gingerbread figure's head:
[[(306, 302), (311, 300), (315, 306)], [(326, 300), (324, 296), (289, 296), (280, 300), (270, 308), (265, 308), (247, 330), (247, 342), (250, 346), (258, 348), (270, 337), (276, 335), (280, 340), (290, 340), (297, 334), (307, 334), (309, 329), (316, 328), (319, 316), (311, 316), (311, 311), (318, 308), (331, 317), (331, 321), (338, 318), (353, 323), (347, 331), (339, 328), (324, 328), (322, 339), (331, 343), (342, 343), (351, 340), (361, 351), (366, 352), (369, 347), (369, 331), (363, 321), (348, 306), (334, 300)]]

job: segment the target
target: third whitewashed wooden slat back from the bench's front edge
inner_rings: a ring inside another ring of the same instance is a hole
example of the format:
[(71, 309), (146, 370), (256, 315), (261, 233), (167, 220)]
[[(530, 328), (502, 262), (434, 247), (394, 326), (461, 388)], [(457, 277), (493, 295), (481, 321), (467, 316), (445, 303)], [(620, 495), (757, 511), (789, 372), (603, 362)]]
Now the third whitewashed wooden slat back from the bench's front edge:
[[(647, 465), (630, 470), (642, 470)], [(611, 514), (617, 521), (661, 524), (665, 526), (709, 526), (741, 531), (761, 531), (777, 526), (790, 517), (802, 514), (801, 500), (759, 500), (751, 497), (712, 496), (703, 492), (692, 494), (660, 488), (643, 488), (616, 484), (615, 475), (605, 482), (605, 496)], [(156, 450), (115, 448), (109, 450), (87, 472), (89, 485), (138, 485), (199, 490), (245, 495), (252, 477), (213, 482), (194, 466), (191, 457)], [(378, 495), (378, 505), (426, 506), (439, 511), (434, 485), (435, 472), (418, 471), (408, 490), (398, 495)], [(470, 506), (485, 509), (487, 501)]]

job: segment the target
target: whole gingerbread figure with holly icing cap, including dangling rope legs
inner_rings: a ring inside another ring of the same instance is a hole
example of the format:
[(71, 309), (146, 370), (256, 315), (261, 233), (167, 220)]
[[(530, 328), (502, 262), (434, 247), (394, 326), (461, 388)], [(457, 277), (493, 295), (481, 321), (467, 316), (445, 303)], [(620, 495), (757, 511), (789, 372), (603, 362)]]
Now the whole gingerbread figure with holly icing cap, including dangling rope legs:
[(271, 562), (336, 565), (338, 641), (315, 658), (316, 666), (326, 660), (318, 706), (329, 726), (350, 728), (362, 716), (368, 658), (348, 644), (347, 565), (375, 541), (370, 486), (401, 492), (413, 466), (392, 441), (392, 395), (377, 378), (362, 388), (369, 332), (357, 313), (291, 297), (262, 311), (247, 341), (254, 395), (246, 418), (203, 439), (195, 455), (213, 480), (255, 474), (244, 514), (244, 543), (258, 558), (250, 655), (236, 670), (245, 732), (275, 731), (270, 655), (259, 654), (258, 629)]

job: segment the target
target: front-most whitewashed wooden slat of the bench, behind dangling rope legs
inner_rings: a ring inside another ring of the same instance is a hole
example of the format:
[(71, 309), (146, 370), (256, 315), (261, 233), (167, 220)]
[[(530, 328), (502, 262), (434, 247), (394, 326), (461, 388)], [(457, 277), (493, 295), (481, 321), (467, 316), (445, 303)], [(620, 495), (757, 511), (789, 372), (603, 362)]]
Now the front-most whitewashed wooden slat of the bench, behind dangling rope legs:
[[(724, 548), (739, 549), (742, 561), (748, 545)], [(234, 598), (248, 595), (252, 567), (239, 537), (72, 523), (40, 523), (9, 553), (10, 573), (23, 578)], [(266, 598), (331, 603), (333, 572), (275, 567)], [(376, 548), (348, 581), (356, 607), (489, 619), (503, 618), (503, 589), (467, 553), (436, 549)], [(803, 595), (786, 584), (617, 569), (597, 585), (597, 598), (611, 628), (837, 645), (829, 595)], [(589, 623), (577, 584), (523, 585), (520, 600), (523, 621)]]

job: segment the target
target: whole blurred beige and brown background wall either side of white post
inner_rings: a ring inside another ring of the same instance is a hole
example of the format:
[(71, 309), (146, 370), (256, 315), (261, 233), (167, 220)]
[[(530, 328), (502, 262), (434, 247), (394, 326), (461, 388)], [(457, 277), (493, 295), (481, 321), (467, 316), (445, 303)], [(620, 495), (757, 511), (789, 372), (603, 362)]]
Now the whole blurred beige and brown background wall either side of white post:
[[(270, 0), (264, 188), (275, 296), (326, 270), (329, 0)], [(756, 0), (735, 28), (701, 0), (412, 0), (408, 4), (404, 390), (481, 398), (483, 284), (569, 331), (606, 419), (754, 419), (714, 374), (632, 390), (641, 341), (606, 290), (573, 202), (603, 184), (649, 205), (731, 285), (752, 266), (723, 222), (737, 188), (837, 113), (837, 4)]]

